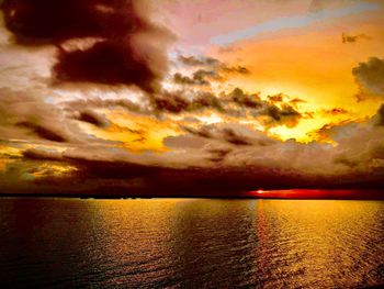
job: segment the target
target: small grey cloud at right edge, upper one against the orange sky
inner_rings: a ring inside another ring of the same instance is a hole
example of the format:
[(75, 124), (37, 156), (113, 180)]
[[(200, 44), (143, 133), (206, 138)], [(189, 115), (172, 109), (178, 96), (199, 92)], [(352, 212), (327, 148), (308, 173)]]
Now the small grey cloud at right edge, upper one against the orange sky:
[(358, 100), (371, 97), (384, 97), (384, 59), (371, 57), (352, 69), (352, 75), (360, 86)]

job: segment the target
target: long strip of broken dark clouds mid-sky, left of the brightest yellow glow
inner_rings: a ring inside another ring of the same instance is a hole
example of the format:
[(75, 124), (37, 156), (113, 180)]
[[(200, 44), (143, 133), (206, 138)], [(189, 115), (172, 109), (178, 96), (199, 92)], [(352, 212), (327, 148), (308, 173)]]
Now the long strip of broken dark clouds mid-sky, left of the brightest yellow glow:
[(262, 100), (259, 93), (246, 93), (240, 88), (219, 96), (211, 92), (165, 90), (153, 96), (149, 110), (155, 114), (211, 111), (224, 118), (253, 119), (267, 127), (276, 125), (293, 127), (305, 118), (290, 103), (280, 102), (276, 105), (273, 102)]

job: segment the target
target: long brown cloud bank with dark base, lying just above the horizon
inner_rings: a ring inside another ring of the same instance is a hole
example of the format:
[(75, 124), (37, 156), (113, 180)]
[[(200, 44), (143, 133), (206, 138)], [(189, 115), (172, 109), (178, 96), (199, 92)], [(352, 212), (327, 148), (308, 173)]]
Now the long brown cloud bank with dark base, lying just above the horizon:
[(375, 124), (377, 115), (368, 123), (329, 127), (338, 146), (281, 142), (229, 123), (207, 125), (205, 133), (191, 130), (171, 136), (166, 143), (172, 151), (160, 155), (78, 146), (64, 153), (27, 149), (23, 162), (25, 166), (27, 162), (59, 162), (75, 167), (67, 177), (49, 176), (29, 184), (42, 189), (55, 184), (54, 190), (59, 190), (57, 185), (65, 182), (67, 192), (81, 193), (124, 194), (128, 190), (143, 196), (199, 196), (259, 187), (382, 188), (384, 129)]

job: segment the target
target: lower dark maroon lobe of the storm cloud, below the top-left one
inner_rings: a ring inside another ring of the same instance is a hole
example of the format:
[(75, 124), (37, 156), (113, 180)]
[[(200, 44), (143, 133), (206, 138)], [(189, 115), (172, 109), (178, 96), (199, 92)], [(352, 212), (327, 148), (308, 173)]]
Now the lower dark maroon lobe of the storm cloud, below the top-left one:
[(154, 90), (157, 75), (149, 64), (132, 57), (132, 47), (116, 42), (100, 42), (87, 51), (59, 49), (54, 66), (57, 81), (137, 85)]

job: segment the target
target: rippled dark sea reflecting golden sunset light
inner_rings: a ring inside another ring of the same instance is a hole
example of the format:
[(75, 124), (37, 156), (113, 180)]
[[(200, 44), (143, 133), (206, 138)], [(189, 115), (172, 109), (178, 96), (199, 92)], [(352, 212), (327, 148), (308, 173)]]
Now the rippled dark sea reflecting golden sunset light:
[(1, 288), (384, 285), (384, 201), (0, 199)]

